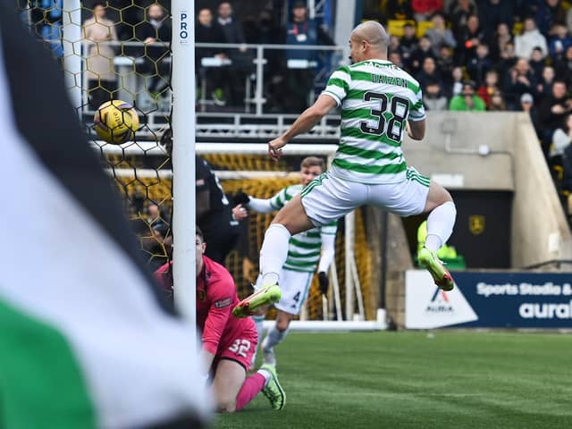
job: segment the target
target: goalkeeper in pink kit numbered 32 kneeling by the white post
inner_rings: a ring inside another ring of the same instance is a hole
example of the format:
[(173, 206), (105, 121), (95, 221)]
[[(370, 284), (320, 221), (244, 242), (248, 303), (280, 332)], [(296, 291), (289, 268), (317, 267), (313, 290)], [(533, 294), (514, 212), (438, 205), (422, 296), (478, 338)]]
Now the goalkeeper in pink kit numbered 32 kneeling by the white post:
[[(286, 395), (273, 366), (263, 365), (247, 377), (257, 349), (257, 328), (250, 318), (232, 317), (232, 308), (239, 302), (236, 286), (223, 265), (204, 255), (206, 243), (198, 228), (196, 245), (200, 354), (209, 371), (205, 378), (208, 376), (212, 380), (211, 389), (218, 409), (239, 411), (260, 391), (274, 409), (284, 408)], [(155, 273), (157, 282), (169, 290), (172, 288), (170, 264), (161, 266)]]

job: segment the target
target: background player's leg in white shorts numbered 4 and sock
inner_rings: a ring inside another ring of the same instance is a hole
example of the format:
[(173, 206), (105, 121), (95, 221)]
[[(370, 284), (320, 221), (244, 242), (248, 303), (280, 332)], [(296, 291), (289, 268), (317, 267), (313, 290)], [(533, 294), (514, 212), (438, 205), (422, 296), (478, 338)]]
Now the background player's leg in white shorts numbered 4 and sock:
[(265, 364), (276, 365), (274, 347), (280, 344), (288, 335), (290, 321), (299, 315), (299, 312), (307, 299), (314, 273), (282, 270), (282, 298), (274, 307), (278, 309), (276, 323), (268, 331), (262, 341), (262, 352)]

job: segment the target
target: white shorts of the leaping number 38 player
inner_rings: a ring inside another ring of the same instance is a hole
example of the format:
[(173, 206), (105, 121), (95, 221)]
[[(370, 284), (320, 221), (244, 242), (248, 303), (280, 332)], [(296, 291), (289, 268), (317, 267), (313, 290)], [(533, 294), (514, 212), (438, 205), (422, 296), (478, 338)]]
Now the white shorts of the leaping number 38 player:
[(383, 208), (402, 217), (425, 209), (430, 179), (408, 167), (407, 179), (399, 183), (366, 184), (340, 179), (324, 172), (302, 190), (302, 206), (315, 226), (340, 219), (359, 206)]

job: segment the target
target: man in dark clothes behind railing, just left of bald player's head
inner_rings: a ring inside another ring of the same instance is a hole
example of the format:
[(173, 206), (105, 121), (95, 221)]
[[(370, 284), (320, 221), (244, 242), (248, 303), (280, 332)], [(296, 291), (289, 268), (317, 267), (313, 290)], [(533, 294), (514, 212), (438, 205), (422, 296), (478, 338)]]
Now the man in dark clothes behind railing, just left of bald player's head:
[[(286, 45), (311, 46), (332, 45), (332, 39), (321, 29), (317, 22), (307, 16), (306, 1), (296, 1), (292, 7), (292, 19), (286, 29)], [(308, 106), (310, 91), (314, 90), (317, 52), (315, 50), (290, 49), (286, 57), (286, 88), (288, 97), (284, 98), (285, 110), (299, 113)]]

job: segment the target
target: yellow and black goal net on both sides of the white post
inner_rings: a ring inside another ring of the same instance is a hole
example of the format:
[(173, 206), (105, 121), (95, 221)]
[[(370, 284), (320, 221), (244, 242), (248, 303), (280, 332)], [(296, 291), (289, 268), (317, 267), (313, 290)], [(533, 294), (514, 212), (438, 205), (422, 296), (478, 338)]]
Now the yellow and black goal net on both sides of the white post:
[[(172, 250), (172, 162), (161, 141), (170, 130), (172, 108), (168, 6), (151, 0), (108, 0), (103, 6), (87, 0), (15, 0), (14, 7), (62, 63), (80, 120), (122, 196), (141, 253), (149, 269), (155, 270), (169, 260)], [(157, 21), (162, 23), (159, 28)], [(256, 46), (248, 49), (256, 50)], [(122, 145), (97, 140), (93, 132), (97, 106), (112, 98), (133, 105), (139, 114), (135, 139)], [(256, 120), (250, 120), (249, 127), (256, 128)], [(270, 198), (299, 181), (292, 172), (299, 170), (303, 156), (332, 156), (332, 147), (316, 144), (303, 151), (286, 151), (277, 164), (265, 156), (264, 144), (247, 146), (253, 147), (248, 153), (243, 144), (197, 145), (198, 155), (213, 165), (229, 195), (242, 189), (257, 198)], [(226, 260), (240, 297), (247, 296), (256, 281), (258, 252), (271, 220), (272, 214), (250, 214), (241, 242)], [(339, 225), (327, 299), (314, 279), (300, 317), (307, 321), (374, 321), (378, 296), (378, 285), (372, 282), (374, 269), (364, 212), (357, 210)], [(273, 318), (273, 313), (267, 318)]]

